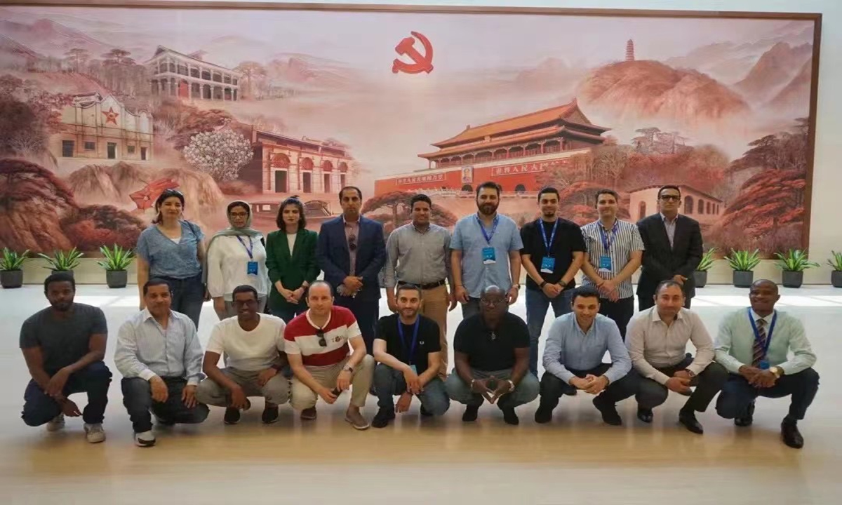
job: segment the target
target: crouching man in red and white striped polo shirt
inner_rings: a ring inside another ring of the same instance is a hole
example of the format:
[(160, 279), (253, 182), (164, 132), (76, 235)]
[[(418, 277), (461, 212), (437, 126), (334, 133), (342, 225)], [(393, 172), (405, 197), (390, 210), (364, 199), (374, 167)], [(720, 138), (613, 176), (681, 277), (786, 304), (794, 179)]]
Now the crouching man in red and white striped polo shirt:
[(286, 355), (295, 374), (290, 404), (301, 411), (301, 419), (315, 419), (319, 396), (332, 404), (353, 385), (345, 421), (356, 429), (368, 429), (360, 408), (365, 406), (375, 362), (366, 354), (360, 326), (351, 311), (333, 306), (333, 288), (326, 281), (310, 284), (307, 306), (284, 332)]

